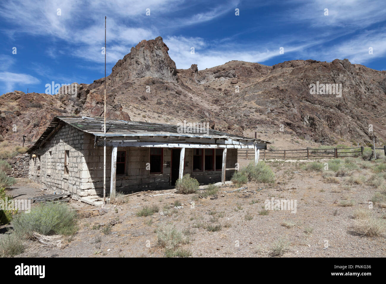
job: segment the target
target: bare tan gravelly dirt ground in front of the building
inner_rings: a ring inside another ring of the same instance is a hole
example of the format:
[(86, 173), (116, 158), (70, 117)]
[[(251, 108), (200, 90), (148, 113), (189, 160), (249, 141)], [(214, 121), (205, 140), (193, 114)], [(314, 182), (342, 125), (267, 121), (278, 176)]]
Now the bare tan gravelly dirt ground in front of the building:
[[(248, 162), (241, 160), (240, 165)], [(361, 236), (352, 230), (353, 212), (369, 208), (374, 187), (365, 184), (342, 187), (347, 177), (337, 177), (339, 183), (326, 183), (321, 173), (303, 170), (300, 163), (268, 164), (276, 175), (275, 184), (249, 183), (245, 185), (247, 188), (235, 192), (229, 191), (237, 186), (227, 185), (220, 187), (217, 196), (200, 198), (200, 192), (183, 195), (174, 190), (140, 192), (129, 196), (122, 205), (107, 204), (105, 214), (91, 211), (96, 209), (94, 206), (71, 201), (69, 205), (80, 215), (78, 233), (61, 248), (29, 241), (19, 256), (163, 257), (164, 249), (157, 245), (155, 230), (168, 223), (188, 235), (190, 242), (182, 247), (190, 250), (192, 257), (266, 257), (266, 252), (280, 239), (291, 243), (283, 257), (386, 256), (384, 235)], [(358, 169), (353, 176), (367, 177), (370, 173), (370, 169)], [(42, 193), (39, 188), (20, 180), (10, 193), (19, 197), (38, 196)], [(171, 194), (151, 197), (161, 193)], [(272, 197), (296, 200), (296, 213), (269, 210), (267, 215), (259, 214), (264, 201)], [(351, 199), (354, 206), (339, 206), (341, 201)], [(175, 201), (180, 201), (183, 208), (174, 209)], [(146, 205), (158, 206), (159, 212), (138, 217), (136, 213)], [(386, 212), (375, 205), (369, 210), (377, 217)], [(284, 221), (295, 225), (286, 228), (281, 225)], [(208, 224), (220, 224), (221, 230), (208, 231), (205, 228)], [(103, 230), (107, 226), (111, 226), (111, 231), (105, 235)]]

